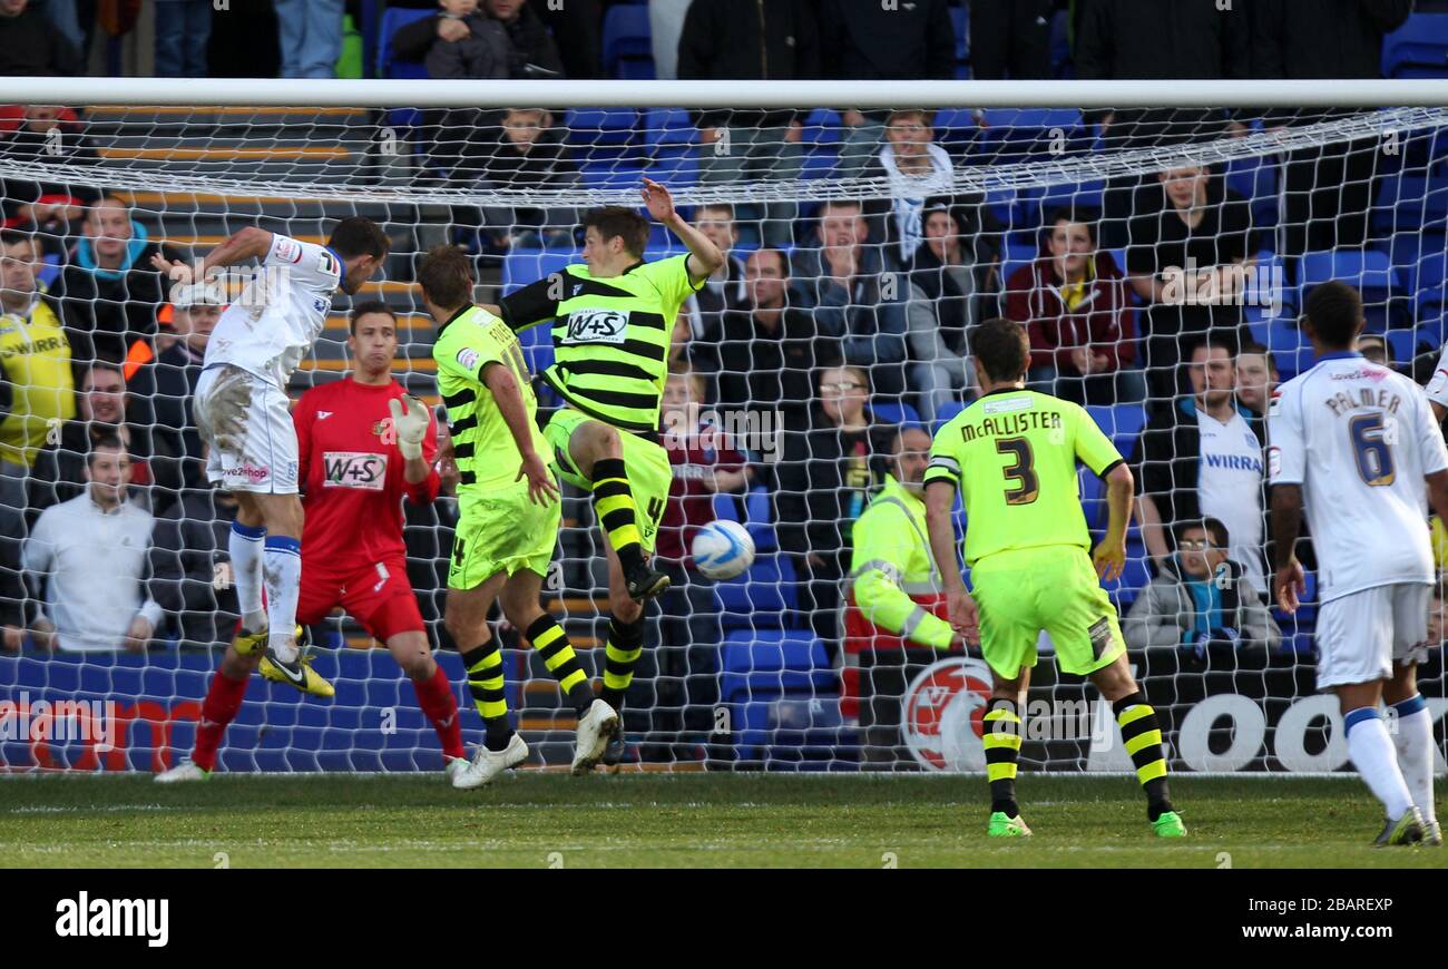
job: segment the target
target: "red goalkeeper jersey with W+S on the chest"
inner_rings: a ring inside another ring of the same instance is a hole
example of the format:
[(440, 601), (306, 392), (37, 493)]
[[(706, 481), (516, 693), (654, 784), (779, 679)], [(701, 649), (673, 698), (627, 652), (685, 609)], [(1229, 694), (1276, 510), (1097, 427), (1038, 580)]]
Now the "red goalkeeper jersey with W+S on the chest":
[[(401, 395), (397, 381), (368, 387), (348, 377), (308, 390), (292, 410), (306, 488), (301, 552), (327, 572), (405, 556), (403, 495), (414, 503), (437, 497), (436, 468), (417, 484), (404, 477), (405, 462), (387, 408)], [(423, 458), (432, 465), (436, 455), (433, 417)]]

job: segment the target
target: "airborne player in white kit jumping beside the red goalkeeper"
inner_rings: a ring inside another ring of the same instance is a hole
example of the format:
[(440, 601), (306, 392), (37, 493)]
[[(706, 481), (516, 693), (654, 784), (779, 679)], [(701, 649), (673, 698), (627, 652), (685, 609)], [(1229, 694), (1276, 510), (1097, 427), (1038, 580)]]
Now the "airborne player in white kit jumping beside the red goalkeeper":
[[(227, 550), (242, 610), (236, 652), (265, 645), (268, 676), (332, 695), (330, 684), (300, 662), (295, 621), (301, 585), (301, 500), (297, 432), (287, 381), (327, 323), (332, 297), (353, 294), (387, 258), (390, 240), (371, 219), (339, 222), (326, 246), (246, 227), (206, 256), (200, 277), (259, 259), (261, 268), (211, 333), (195, 388), (195, 421), (210, 449), (207, 478), (237, 498)], [(193, 267), (153, 259), (174, 284)], [(262, 607), (262, 585), (266, 605)]]

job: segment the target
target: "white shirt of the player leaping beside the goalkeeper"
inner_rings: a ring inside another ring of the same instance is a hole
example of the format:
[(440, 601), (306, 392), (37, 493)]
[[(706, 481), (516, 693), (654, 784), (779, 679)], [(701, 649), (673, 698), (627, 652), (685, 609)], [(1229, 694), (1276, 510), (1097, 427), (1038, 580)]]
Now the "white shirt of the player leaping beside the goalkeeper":
[(261, 271), (217, 320), (206, 365), (230, 364), (285, 391), (321, 336), (343, 275), (332, 249), (274, 232)]

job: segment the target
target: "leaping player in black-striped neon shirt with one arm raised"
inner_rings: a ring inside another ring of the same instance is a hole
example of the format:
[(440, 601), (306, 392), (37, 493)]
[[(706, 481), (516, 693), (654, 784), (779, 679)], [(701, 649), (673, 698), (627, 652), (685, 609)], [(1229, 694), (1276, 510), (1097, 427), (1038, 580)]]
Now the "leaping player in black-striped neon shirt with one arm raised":
[[(543, 381), (563, 398), (543, 435), (559, 474), (592, 494), (608, 539), (608, 605), (602, 700), (621, 710), (643, 650), (643, 603), (669, 578), (649, 565), (669, 501), (673, 468), (659, 442), (659, 411), (669, 343), (679, 307), (724, 262), (724, 255), (673, 207), (669, 190), (644, 180), (649, 214), (688, 253), (644, 262), (649, 220), (607, 207), (584, 217), (584, 264), (571, 265), (487, 307), (514, 332), (553, 329), (553, 366)], [(610, 760), (621, 753), (614, 736)]]

